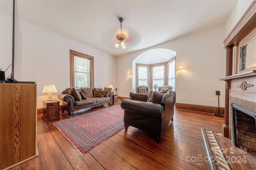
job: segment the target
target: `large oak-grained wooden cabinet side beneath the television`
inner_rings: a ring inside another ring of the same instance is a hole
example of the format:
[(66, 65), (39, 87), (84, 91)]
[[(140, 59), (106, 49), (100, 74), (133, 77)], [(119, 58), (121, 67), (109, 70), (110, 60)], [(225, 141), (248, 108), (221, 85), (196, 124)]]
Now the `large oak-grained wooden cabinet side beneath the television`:
[(36, 84), (0, 84), (0, 169), (38, 156)]

